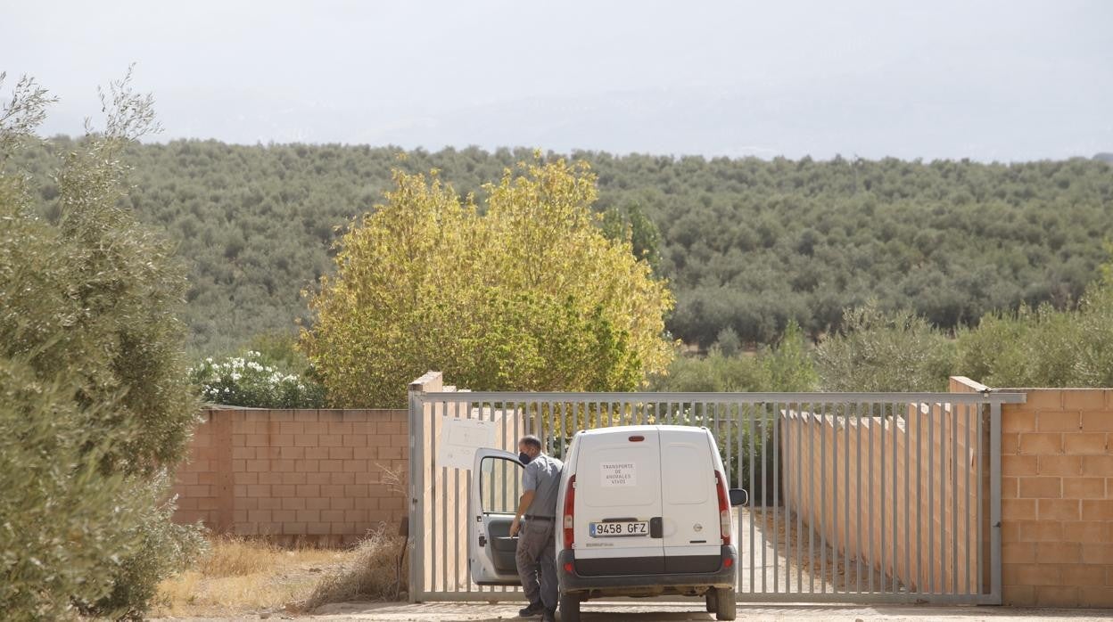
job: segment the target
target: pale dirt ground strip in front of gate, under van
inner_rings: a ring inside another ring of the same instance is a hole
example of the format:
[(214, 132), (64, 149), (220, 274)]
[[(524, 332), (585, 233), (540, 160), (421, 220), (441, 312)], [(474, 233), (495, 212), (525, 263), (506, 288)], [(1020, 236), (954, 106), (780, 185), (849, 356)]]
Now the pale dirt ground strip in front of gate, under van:
[[(343, 603), (325, 605), (315, 615), (275, 612), (237, 618), (177, 618), (183, 622), (210, 620), (295, 620), (297, 622), (505, 622), (518, 618), (519, 603)], [(702, 611), (702, 602), (585, 603), (584, 622), (709, 622), (715, 615)], [(992, 606), (909, 606), (909, 605), (747, 605), (738, 606), (739, 620), (761, 622), (845, 621), (845, 622), (1107, 622), (1113, 610), (1034, 610)], [(519, 619), (520, 620), (520, 619)], [(532, 620), (539, 620), (536, 618)]]

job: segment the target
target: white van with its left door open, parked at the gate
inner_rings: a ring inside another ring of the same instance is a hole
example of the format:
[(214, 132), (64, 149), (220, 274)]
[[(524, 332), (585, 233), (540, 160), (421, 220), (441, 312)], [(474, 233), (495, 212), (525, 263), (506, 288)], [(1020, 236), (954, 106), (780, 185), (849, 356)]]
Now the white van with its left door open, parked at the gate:
[[(469, 563), (481, 585), (515, 585), (510, 522), (518, 456), (479, 450)], [(562, 622), (605, 596), (703, 595), (719, 620), (736, 615), (737, 529), (715, 436), (703, 427), (636, 425), (577, 433), (561, 474), (556, 575)]]

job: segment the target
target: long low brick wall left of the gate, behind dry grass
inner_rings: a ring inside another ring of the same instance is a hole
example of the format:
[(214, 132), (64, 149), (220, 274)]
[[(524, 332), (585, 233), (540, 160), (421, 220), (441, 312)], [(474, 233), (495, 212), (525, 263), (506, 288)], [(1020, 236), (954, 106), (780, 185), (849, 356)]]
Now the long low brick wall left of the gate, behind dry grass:
[(405, 516), (406, 411), (211, 408), (178, 468), (178, 522), (323, 544)]

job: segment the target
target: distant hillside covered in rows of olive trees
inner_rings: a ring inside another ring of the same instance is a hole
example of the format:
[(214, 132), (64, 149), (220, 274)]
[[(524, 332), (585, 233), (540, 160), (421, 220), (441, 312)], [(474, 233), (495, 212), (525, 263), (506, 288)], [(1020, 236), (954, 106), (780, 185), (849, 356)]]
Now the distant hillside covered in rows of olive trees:
[[(58, 138), (17, 164), (46, 174), (52, 151), (72, 148)], [(302, 290), (334, 269), (337, 227), (382, 203), (392, 168), (436, 168), (462, 195), (480, 194), (482, 181), (533, 157), (216, 141), (131, 149), (137, 187), (126, 201), (191, 266), (184, 318), (195, 354), (293, 334), (308, 313)], [(644, 217), (634, 248), (641, 238), (670, 282), (677, 307), (667, 326), (701, 346), (728, 328), (731, 339), (769, 343), (791, 319), (815, 338), (870, 298), (945, 329), (1022, 303), (1068, 307), (1094, 279), (1113, 228), (1113, 167), (1099, 160), (567, 156), (598, 175), (597, 209)], [(35, 191), (46, 206), (58, 189), (48, 181)]]

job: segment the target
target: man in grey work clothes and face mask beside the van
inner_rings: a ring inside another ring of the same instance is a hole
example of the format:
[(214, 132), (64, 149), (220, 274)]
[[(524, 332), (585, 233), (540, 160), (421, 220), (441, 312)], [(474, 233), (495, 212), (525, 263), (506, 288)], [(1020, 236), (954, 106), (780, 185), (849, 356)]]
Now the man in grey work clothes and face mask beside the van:
[(541, 451), (541, 440), (529, 434), (518, 442), (518, 457), (525, 465), (522, 473), (522, 497), (518, 502), (510, 535), (525, 530), (518, 539), (518, 575), (530, 604), (518, 612), (522, 618), (542, 614), (544, 622), (556, 620), (556, 493), (560, 470), (564, 466)]

